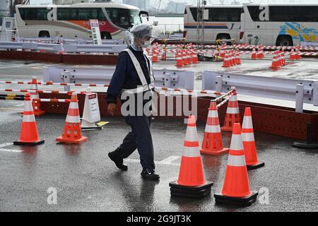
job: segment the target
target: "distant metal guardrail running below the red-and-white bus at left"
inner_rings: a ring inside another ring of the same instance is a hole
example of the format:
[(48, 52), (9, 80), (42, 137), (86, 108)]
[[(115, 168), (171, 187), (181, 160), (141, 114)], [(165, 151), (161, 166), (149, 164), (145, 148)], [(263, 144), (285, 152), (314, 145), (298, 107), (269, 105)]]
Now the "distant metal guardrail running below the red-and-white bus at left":
[(42, 42), (0, 42), (0, 49), (45, 50), (48, 52), (102, 52), (119, 53), (126, 44), (54, 44)]

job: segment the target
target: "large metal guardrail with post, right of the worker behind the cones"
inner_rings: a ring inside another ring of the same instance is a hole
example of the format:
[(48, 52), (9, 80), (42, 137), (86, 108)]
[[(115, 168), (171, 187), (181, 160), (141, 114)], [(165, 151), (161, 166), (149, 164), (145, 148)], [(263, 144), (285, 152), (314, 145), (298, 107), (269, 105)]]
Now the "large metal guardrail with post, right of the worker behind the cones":
[(230, 90), (232, 86), (235, 86), (237, 92), (242, 95), (295, 101), (296, 112), (302, 112), (304, 102), (318, 106), (318, 81), (247, 76), (214, 71), (204, 71), (203, 73), (203, 90), (216, 90), (222, 93)]

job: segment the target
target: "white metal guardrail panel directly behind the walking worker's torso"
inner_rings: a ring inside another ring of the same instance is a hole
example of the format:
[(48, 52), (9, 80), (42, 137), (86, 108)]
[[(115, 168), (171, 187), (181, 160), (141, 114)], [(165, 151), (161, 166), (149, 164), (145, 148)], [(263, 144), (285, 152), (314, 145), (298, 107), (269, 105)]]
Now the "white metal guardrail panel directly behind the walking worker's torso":
[[(49, 66), (43, 71), (43, 81), (54, 83), (109, 84), (114, 69), (103, 67)], [(154, 70), (155, 86), (194, 89), (194, 71)]]

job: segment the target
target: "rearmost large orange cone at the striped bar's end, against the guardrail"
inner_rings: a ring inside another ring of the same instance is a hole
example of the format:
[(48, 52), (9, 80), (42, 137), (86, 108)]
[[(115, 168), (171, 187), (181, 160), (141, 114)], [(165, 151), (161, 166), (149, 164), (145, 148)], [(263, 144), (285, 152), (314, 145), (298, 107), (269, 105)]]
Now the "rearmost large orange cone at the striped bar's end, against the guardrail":
[(233, 124), (236, 122), (240, 122), (240, 109), (238, 107), (238, 102), (237, 102), (237, 93), (234, 90), (230, 100), (228, 101), (228, 108), (226, 109), (226, 114), (225, 114), (225, 121), (224, 125), (221, 127), (221, 131), (232, 131), (233, 129)]

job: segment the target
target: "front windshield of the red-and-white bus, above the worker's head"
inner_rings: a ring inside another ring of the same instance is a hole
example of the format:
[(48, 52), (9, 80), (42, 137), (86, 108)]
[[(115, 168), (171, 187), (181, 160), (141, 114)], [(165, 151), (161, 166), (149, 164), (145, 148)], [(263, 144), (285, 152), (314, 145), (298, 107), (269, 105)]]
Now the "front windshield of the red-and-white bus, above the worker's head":
[(141, 24), (139, 10), (126, 8), (105, 8), (105, 10), (112, 23), (119, 28), (128, 29), (133, 25)]

